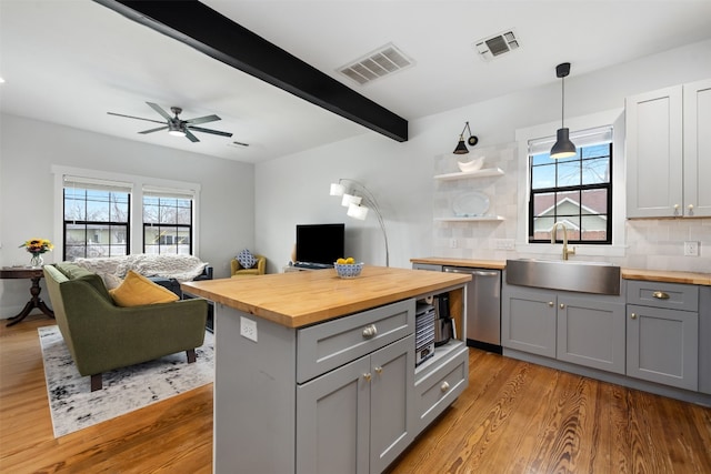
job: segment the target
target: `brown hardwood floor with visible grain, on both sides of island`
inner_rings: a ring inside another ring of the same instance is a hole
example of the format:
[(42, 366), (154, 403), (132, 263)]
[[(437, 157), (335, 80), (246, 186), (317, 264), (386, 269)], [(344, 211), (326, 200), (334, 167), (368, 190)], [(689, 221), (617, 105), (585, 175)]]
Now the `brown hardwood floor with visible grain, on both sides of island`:
[[(37, 335), (53, 322), (1, 324), (0, 472), (211, 472), (212, 385), (56, 440)], [(470, 350), (469, 389), (390, 473), (709, 474), (711, 409)]]

